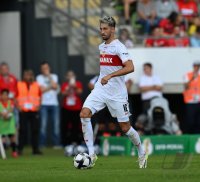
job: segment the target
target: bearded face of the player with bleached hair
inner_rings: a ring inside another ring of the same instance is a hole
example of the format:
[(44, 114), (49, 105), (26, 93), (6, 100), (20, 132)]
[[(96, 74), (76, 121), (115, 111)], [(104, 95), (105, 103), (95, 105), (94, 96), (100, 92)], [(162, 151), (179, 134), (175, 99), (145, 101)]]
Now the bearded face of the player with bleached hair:
[(114, 27), (110, 27), (106, 23), (100, 23), (100, 35), (103, 40), (106, 41), (106, 40), (110, 39), (111, 35), (114, 34), (114, 32), (115, 32)]

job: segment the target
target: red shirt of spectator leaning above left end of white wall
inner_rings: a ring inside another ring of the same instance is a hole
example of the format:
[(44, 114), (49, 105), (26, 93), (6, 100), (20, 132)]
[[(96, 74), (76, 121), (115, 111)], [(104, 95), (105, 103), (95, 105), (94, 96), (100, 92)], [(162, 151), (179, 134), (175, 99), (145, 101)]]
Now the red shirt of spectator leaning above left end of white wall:
[(165, 38), (147, 38), (145, 45), (150, 47), (167, 47), (168, 41)]

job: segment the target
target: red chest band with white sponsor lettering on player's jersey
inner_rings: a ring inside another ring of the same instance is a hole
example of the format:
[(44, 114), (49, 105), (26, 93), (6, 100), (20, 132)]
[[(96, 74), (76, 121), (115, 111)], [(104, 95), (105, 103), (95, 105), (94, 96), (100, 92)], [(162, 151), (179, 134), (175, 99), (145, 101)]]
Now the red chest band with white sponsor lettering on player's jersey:
[(117, 55), (100, 54), (100, 66), (123, 66), (123, 63)]

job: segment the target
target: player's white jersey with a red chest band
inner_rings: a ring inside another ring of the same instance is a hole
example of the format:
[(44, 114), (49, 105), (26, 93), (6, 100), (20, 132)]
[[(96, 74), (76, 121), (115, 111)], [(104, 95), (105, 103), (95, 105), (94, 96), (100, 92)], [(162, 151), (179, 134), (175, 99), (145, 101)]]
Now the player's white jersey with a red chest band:
[(101, 79), (123, 68), (123, 64), (131, 60), (126, 47), (118, 40), (110, 44), (99, 45), (100, 51), (100, 76), (95, 84), (95, 90), (105, 94), (111, 100), (124, 100), (127, 98), (125, 76), (111, 78), (107, 84), (102, 85)]

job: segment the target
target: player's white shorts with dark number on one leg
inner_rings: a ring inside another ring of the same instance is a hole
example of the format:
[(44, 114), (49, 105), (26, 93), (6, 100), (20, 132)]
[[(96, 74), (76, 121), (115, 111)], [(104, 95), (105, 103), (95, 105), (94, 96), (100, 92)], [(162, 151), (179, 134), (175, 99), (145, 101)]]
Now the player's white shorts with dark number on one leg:
[(91, 92), (83, 104), (83, 108), (89, 108), (92, 115), (106, 106), (112, 117), (117, 118), (118, 122), (129, 121), (129, 116), (131, 114), (129, 112), (129, 103), (126, 98), (124, 100), (111, 100), (104, 94)]

